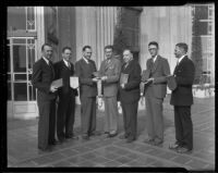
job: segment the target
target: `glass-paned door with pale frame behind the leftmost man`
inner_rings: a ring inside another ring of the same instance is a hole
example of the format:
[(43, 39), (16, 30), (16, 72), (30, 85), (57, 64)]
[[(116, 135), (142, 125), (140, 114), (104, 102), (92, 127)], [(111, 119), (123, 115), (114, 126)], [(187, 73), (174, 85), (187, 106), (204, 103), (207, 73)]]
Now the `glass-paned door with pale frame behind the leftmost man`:
[(8, 52), (8, 116), (36, 116), (36, 89), (31, 83), (36, 60), (35, 37), (9, 37)]

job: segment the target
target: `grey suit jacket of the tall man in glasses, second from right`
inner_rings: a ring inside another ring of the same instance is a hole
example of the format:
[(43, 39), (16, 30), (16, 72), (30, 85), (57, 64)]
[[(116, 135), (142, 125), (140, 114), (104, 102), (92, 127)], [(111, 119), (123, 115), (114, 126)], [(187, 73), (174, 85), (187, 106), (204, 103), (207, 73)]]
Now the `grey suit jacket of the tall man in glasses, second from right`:
[(158, 55), (155, 63), (153, 59), (148, 59), (146, 63), (150, 76), (154, 77), (153, 84), (145, 88), (145, 96), (155, 98), (165, 98), (167, 94), (167, 75), (170, 75), (170, 66), (168, 60)]

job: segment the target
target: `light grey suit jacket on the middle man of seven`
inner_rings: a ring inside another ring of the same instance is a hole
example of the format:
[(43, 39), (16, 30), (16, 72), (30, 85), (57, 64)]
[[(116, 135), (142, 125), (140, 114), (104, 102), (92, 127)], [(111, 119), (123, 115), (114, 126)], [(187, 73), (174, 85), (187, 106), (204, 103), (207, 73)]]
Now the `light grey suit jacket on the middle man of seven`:
[(121, 71), (121, 62), (116, 58), (111, 58), (109, 63), (107, 63), (107, 60), (104, 60), (101, 62), (99, 74), (100, 76), (108, 77), (106, 82), (102, 83), (104, 96), (106, 97), (117, 96), (120, 71)]

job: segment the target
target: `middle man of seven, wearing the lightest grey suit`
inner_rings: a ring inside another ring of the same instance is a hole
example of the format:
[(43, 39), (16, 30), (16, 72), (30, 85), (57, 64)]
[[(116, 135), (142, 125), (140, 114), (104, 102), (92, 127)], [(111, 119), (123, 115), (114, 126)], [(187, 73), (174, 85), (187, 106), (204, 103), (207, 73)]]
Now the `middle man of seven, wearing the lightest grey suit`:
[(120, 78), (121, 64), (113, 57), (113, 47), (106, 46), (106, 60), (101, 62), (99, 74), (102, 81), (105, 100), (105, 133), (108, 137), (118, 134), (118, 82)]

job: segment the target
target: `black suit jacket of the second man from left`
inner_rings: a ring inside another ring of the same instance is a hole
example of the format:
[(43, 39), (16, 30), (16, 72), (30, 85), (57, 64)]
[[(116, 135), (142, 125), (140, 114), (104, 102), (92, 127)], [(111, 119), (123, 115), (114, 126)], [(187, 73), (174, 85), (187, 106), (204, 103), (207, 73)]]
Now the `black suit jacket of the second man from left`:
[(75, 97), (77, 95), (77, 90), (70, 87), (70, 77), (74, 75), (74, 65), (73, 63), (70, 64), (71, 67), (69, 69), (63, 60), (55, 63), (56, 78), (63, 79), (63, 86), (58, 89), (59, 97)]

